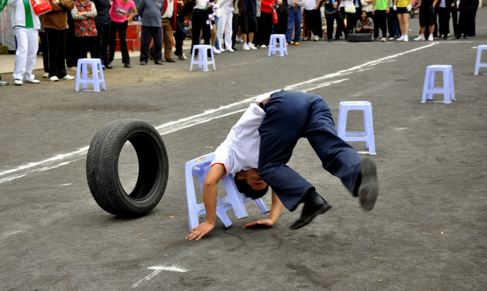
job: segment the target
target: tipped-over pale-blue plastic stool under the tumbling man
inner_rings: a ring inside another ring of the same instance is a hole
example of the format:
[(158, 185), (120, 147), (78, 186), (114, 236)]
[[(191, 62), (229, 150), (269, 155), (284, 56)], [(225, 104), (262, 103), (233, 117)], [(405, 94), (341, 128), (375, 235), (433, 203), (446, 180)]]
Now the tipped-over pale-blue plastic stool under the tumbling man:
[[(189, 231), (200, 224), (198, 220), (198, 215), (206, 213), (205, 205), (198, 204), (196, 202), (196, 193), (194, 190), (193, 176), (198, 179), (200, 184), (200, 193), (203, 193), (203, 182), (205, 181), (206, 175), (210, 170), (211, 161), (214, 158), (214, 153), (206, 154), (200, 156), (199, 158), (190, 160), (185, 165), (186, 173), (186, 196), (187, 196), (187, 212), (189, 221)], [(223, 186), (225, 187), (226, 195), (223, 198), (217, 198), (216, 215), (225, 224), (225, 227), (232, 225), (232, 222), (226, 215), (226, 211), (233, 208), (235, 216), (237, 219), (242, 219), (248, 217), (247, 210), (245, 209), (244, 203), (250, 200), (255, 201), (259, 206), (262, 213), (269, 212), (269, 209), (264, 204), (261, 198), (252, 199), (240, 193), (235, 186), (235, 181), (231, 174), (228, 174), (225, 179), (222, 180)], [(221, 196), (221, 195), (220, 195)]]

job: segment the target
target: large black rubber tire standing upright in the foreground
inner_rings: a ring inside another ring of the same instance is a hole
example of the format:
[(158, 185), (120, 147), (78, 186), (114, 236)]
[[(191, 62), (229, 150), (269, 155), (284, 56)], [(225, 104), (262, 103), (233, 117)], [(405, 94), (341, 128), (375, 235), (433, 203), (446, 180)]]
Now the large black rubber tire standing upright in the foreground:
[[(118, 159), (124, 144), (131, 142), (139, 163), (137, 182), (127, 193), (118, 176)], [(169, 163), (161, 135), (142, 120), (116, 120), (93, 137), (86, 158), (86, 177), (94, 200), (103, 210), (133, 218), (152, 210), (168, 184)]]

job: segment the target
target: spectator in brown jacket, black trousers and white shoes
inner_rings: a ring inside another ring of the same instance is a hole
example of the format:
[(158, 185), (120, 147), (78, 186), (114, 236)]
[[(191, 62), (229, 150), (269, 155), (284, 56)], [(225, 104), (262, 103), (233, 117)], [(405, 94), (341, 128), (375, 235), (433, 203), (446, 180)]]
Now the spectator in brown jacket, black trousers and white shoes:
[(66, 32), (68, 30), (68, 12), (75, 7), (72, 0), (49, 0), (53, 10), (42, 15), (42, 25), (47, 35), (49, 59), (49, 80), (73, 80), (75, 77), (66, 73), (64, 59)]

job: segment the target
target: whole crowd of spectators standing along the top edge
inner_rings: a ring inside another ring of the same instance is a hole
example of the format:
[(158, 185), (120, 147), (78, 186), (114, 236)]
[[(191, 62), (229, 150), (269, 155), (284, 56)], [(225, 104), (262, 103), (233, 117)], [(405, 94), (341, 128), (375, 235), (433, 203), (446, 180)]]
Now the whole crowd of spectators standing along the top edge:
[[(37, 84), (32, 74), (41, 40), (44, 61), (43, 78), (52, 82), (73, 80), (67, 68), (76, 70), (79, 58), (99, 58), (103, 69), (110, 69), (114, 58), (116, 34), (122, 63), (131, 68), (127, 46), (128, 24), (141, 18), (140, 65), (153, 59), (163, 65), (173, 63), (175, 52), (185, 60), (182, 46), (191, 22), (191, 49), (210, 44), (214, 53), (244, 51), (269, 46), (271, 34), (285, 34), (286, 45), (300, 45), (301, 20), (309, 27), (309, 39), (327, 41), (347, 39), (349, 34), (370, 34), (374, 40), (409, 41), (412, 9), (419, 9), (420, 31), (415, 41), (447, 39), (450, 16), (453, 36), (475, 35), (475, 15), (479, 0), (49, 0), (52, 11), (38, 17), (30, 0), (8, 0), (12, 7), (11, 24), (17, 39), (14, 84)], [(321, 16), (323, 7), (326, 31)], [(458, 15), (459, 13), (459, 15)], [(345, 24), (346, 19), (346, 24)], [(337, 23), (333, 37), (334, 22)], [(427, 29), (428, 28), (428, 29)], [(389, 33), (389, 37), (387, 34)], [(152, 47), (150, 44), (152, 43)], [(67, 68), (66, 68), (67, 67)], [(8, 83), (1, 80), (0, 86)]]

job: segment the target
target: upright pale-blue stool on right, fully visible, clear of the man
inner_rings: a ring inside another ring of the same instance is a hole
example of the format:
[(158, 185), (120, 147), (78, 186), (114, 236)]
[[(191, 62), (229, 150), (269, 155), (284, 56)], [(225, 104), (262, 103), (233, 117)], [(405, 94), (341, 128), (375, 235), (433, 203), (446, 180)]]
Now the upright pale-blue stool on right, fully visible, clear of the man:
[[(443, 87), (434, 86), (436, 71), (443, 72)], [(431, 65), (426, 68), (421, 103), (426, 103), (426, 100), (433, 100), (433, 93), (443, 94), (445, 104), (449, 104), (450, 100), (455, 101), (455, 85), (453, 84), (453, 67), (451, 65)], [(426, 98), (427, 95), (428, 98)]]

